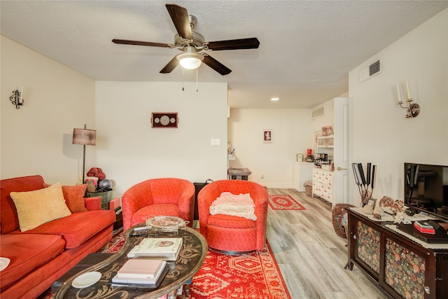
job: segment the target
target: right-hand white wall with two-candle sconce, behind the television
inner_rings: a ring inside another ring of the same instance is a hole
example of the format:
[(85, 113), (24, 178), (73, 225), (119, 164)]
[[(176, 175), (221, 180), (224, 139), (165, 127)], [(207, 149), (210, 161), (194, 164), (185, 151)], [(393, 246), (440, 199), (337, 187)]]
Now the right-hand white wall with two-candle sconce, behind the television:
[[(351, 162), (378, 165), (375, 198), (402, 199), (404, 162), (448, 165), (447, 41), (448, 9), (378, 53), (381, 74), (360, 83), (358, 72), (365, 64), (349, 73)], [(416, 118), (405, 118), (405, 109), (396, 104), (396, 83), (404, 98), (405, 80), (421, 107)], [(352, 190), (351, 203), (358, 205), (358, 190)]]

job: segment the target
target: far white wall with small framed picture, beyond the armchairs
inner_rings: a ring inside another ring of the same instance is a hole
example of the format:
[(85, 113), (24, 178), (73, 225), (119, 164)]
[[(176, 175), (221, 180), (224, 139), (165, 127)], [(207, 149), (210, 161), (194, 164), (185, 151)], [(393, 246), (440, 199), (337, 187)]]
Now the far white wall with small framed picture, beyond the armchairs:
[[(262, 142), (265, 129), (273, 132), (270, 144)], [(249, 181), (267, 188), (293, 188), (296, 154), (313, 144), (310, 109), (231, 109), (228, 131), (235, 148), (230, 167), (248, 167)]]

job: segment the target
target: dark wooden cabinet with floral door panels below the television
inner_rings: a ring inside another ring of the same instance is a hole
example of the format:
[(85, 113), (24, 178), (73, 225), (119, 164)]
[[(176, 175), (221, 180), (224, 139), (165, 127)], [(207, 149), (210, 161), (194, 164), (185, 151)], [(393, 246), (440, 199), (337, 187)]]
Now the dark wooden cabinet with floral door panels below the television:
[(347, 209), (349, 269), (356, 265), (392, 298), (448, 298), (448, 249), (427, 249)]

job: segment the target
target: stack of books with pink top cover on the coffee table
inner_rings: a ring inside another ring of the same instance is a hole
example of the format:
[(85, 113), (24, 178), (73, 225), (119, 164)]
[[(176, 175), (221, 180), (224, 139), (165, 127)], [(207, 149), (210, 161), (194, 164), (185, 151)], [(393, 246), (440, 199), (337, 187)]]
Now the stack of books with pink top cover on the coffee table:
[(156, 287), (165, 276), (165, 260), (133, 258), (127, 260), (112, 278), (114, 284), (144, 284)]

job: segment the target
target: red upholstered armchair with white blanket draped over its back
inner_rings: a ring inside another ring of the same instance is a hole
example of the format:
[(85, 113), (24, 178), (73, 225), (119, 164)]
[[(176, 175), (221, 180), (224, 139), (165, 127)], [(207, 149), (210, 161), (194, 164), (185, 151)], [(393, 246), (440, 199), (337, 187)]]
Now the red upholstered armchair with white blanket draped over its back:
[[(223, 192), (235, 195), (249, 193), (255, 203), (257, 220), (210, 215), (211, 203)], [(261, 250), (266, 242), (267, 203), (266, 188), (253, 181), (222, 180), (209, 183), (197, 195), (200, 232), (212, 249), (230, 254)]]

